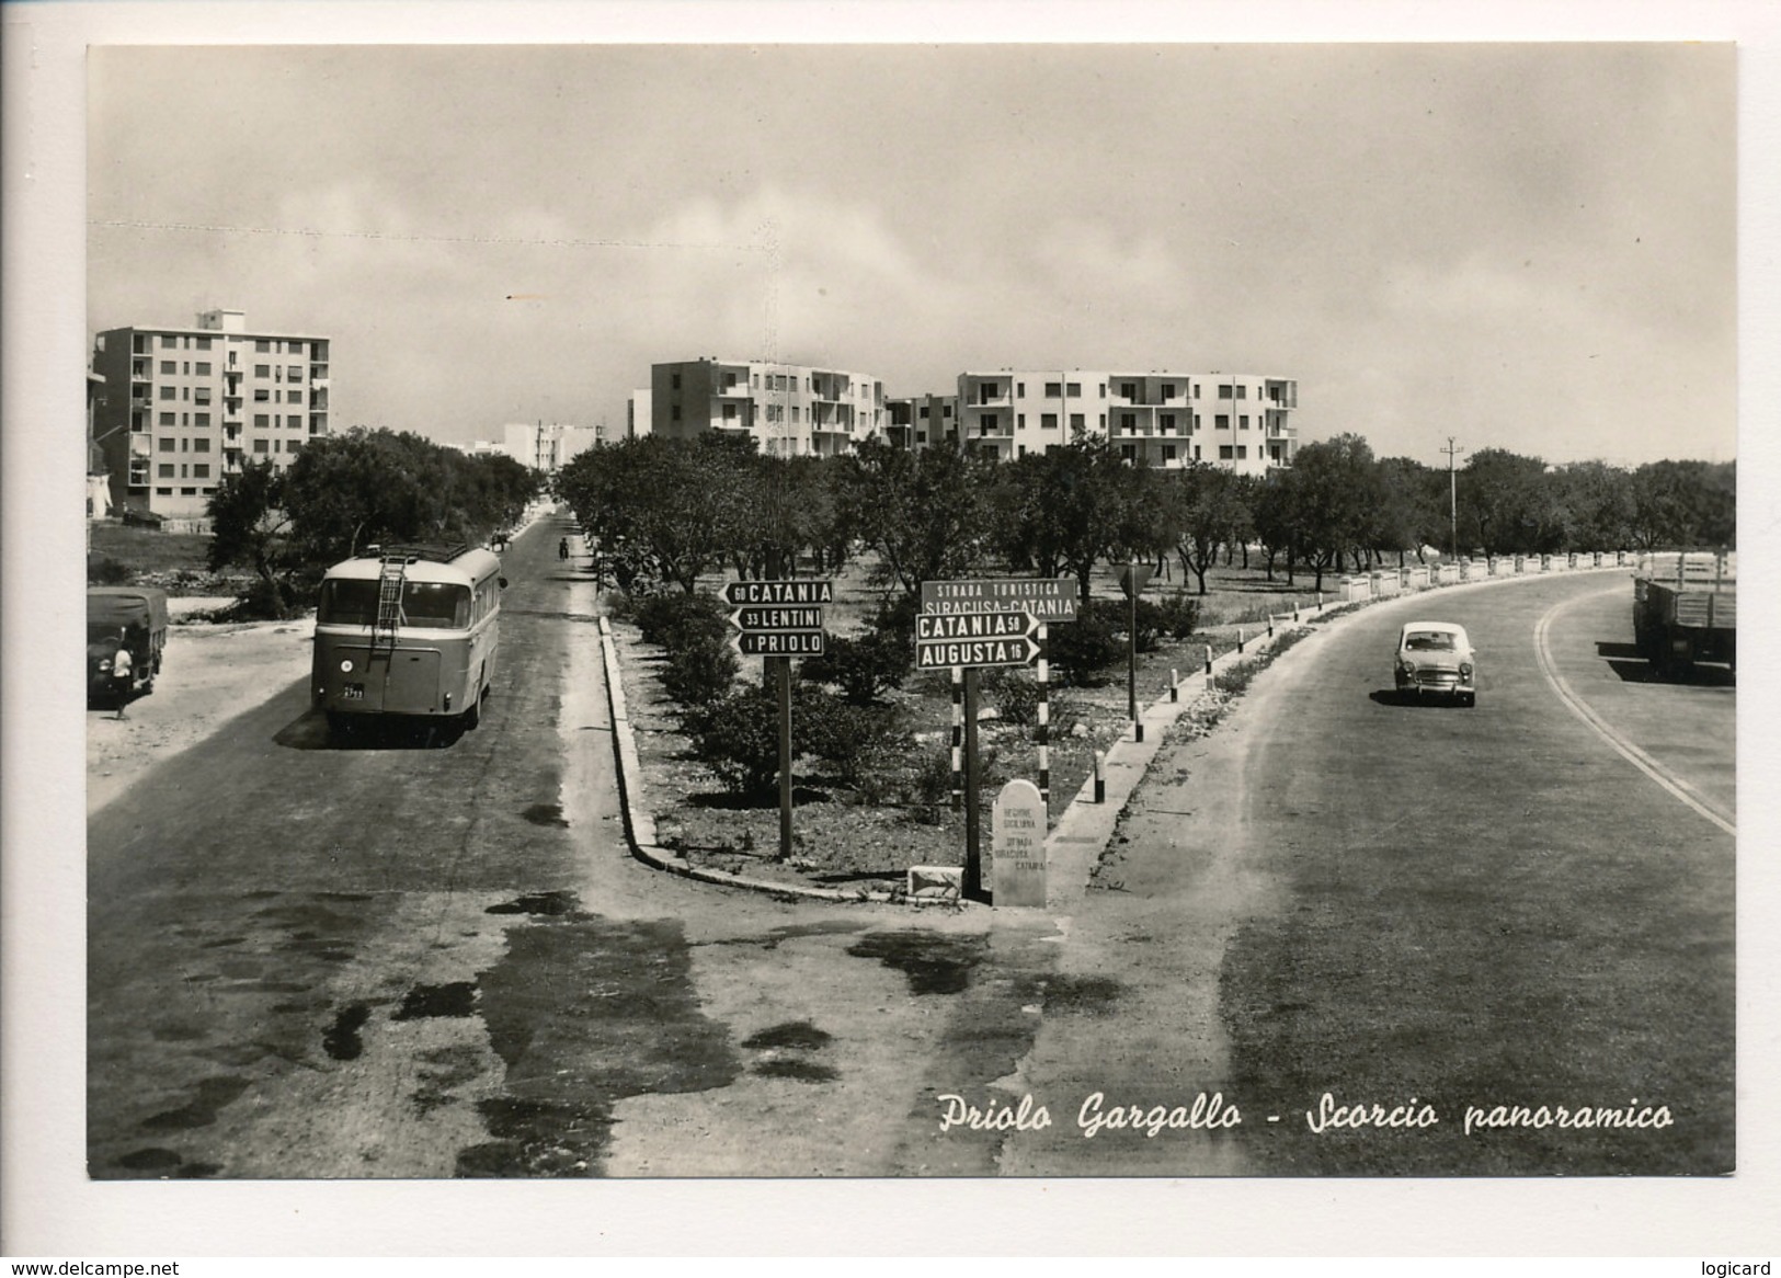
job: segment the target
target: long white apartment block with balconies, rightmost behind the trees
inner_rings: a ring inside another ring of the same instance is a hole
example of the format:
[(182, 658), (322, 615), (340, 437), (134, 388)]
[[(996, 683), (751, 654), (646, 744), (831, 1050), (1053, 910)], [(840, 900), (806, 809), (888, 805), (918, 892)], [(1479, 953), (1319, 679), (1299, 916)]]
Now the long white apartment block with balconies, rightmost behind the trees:
[(1298, 383), (1288, 377), (1033, 368), (958, 376), (956, 447), (1003, 461), (1088, 436), (1140, 466), (1289, 466)]

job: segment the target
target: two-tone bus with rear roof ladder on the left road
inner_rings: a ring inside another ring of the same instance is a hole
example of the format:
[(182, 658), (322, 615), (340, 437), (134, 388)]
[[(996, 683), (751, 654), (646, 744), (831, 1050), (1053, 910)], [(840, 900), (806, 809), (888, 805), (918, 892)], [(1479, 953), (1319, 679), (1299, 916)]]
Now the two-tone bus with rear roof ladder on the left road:
[(481, 546), (370, 546), (322, 577), (313, 703), (331, 735), (403, 716), (474, 728), (500, 646), (500, 559)]

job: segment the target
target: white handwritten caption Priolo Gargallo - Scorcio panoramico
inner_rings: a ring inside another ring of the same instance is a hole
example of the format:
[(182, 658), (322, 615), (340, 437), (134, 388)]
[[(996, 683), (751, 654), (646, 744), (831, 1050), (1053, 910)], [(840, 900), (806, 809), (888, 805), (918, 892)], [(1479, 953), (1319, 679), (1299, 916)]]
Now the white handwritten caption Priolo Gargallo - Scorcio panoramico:
[[(972, 1105), (965, 1096), (947, 1093), (940, 1104), (940, 1130), (955, 1127), (971, 1132), (1038, 1132), (1051, 1127), (1051, 1111), (1035, 1102), (1031, 1093), (1021, 1100), (987, 1098)], [(1305, 1127), (1314, 1136), (1325, 1132), (1354, 1132), (1364, 1128), (1427, 1128), (1441, 1127), (1434, 1105), (1411, 1096), (1402, 1104), (1377, 1102), (1343, 1104), (1325, 1091), (1313, 1109), (1302, 1111)], [(1268, 1123), (1282, 1121), (1268, 1114)], [(1466, 1136), (1492, 1130), (1544, 1128), (1662, 1128), (1676, 1123), (1669, 1105), (1646, 1105), (1637, 1096), (1624, 1105), (1466, 1105), (1460, 1118)], [(1177, 1105), (1131, 1105), (1110, 1102), (1106, 1093), (1090, 1093), (1076, 1111), (1076, 1128), (1085, 1139), (1102, 1132), (1143, 1132), (1147, 1137), (1163, 1132), (1213, 1132), (1243, 1125), (1243, 1112), (1224, 1098), (1222, 1091), (1200, 1091)]]

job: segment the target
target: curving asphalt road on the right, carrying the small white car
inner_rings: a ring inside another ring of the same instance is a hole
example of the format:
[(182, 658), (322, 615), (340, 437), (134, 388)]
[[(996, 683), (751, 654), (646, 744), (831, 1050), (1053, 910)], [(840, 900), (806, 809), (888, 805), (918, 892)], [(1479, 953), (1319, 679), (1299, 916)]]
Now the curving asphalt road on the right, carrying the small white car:
[[(1469, 628), (1476, 708), (1391, 692), (1416, 614)], [(1735, 692), (1647, 682), (1630, 628), (1621, 575), (1377, 605), (1289, 651), (1218, 733), (1165, 748), (1063, 967), (1117, 1015), (1047, 1018), (1019, 1086), (1056, 1123), (1001, 1168), (1729, 1169)], [(1206, 1093), (1241, 1125), (1085, 1139), (1095, 1093), (1145, 1111)], [(1330, 1127), (1325, 1093), (1435, 1121)], [(1464, 1121), (1635, 1098), (1672, 1125)]]

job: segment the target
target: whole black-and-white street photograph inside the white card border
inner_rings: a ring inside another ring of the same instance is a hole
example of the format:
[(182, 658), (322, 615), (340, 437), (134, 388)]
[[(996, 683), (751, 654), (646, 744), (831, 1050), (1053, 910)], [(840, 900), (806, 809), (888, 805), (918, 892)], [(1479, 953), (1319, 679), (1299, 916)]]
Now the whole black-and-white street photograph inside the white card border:
[(1769, 1161), (1736, 39), (736, 27), (85, 48), (89, 1191)]

